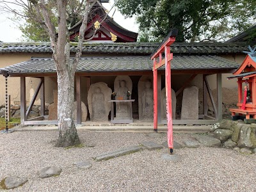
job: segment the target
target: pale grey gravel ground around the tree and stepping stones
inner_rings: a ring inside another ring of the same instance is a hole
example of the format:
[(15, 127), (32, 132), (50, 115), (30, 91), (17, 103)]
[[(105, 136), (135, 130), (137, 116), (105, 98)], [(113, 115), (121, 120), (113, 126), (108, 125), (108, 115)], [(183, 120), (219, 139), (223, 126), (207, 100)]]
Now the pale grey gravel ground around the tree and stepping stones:
[[(226, 148), (182, 148), (175, 150), (179, 162), (161, 159), (166, 148), (142, 150), (108, 161), (92, 157), (141, 141), (161, 144), (166, 138), (144, 133), (79, 131), (81, 141), (93, 148), (53, 147), (57, 131), (24, 131), (0, 134), (0, 179), (15, 175), (28, 177), (24, 186), (8, 191), (255, 191), (256, 155), (246, 156)], [(175, 134), (182, 143), (191, 134)], [(90, 161), (93, 166), (79, 170), (74, 163)], [(39, 179), (45, 166), (60, 166), (59, 177)], [(0, 189), (1, 191), (1, 189)], [(4, 190), (3, 190), (4, 191)]]

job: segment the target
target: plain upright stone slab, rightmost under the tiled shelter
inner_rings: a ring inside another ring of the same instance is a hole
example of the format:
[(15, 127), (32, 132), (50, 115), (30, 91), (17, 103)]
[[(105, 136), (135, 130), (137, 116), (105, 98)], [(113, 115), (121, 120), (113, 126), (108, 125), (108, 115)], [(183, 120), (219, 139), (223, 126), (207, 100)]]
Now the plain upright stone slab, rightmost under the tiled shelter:
[(190, 86), (183, 91), (181, 116), (182, 120), (198, 119), (198, 87)]

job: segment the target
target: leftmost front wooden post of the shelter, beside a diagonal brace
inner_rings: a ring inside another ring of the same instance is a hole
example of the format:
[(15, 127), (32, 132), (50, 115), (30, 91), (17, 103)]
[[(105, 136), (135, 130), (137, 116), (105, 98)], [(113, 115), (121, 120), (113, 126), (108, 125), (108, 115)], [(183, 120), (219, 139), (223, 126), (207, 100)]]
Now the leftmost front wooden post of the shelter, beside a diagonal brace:
[(26, 77), (20, 77), (20, 124), (26, 121)]

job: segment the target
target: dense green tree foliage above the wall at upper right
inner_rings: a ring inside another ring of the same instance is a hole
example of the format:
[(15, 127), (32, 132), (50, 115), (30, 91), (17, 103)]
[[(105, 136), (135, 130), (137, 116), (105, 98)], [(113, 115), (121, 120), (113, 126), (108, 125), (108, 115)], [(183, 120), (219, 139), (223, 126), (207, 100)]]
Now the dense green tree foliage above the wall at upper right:
[(177, 41), (227, 40), (255, 24), (251, 0), (119, 0), (120, 12), (136, 15), (140, 41), (161, 41), (177, 28)]

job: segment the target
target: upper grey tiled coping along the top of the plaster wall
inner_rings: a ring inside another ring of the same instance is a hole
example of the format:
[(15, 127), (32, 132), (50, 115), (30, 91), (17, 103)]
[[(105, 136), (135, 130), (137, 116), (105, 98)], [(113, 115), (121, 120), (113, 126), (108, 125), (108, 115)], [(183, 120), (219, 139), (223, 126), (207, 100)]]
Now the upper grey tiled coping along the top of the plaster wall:
[[(130, 54), (150, 55), (160, 43), (84, 43), (83, 54)], [(254, 46), (254, 45), (252, 45)], [(76, 52), (76, 43), (71, 44), (70, 52)], [(243, 54), (248, 51), (247, 43), (177, 43), (175, 42), (171, 51), (174, 54)], [(51, 54), (51, 44), (41, 43), (0, 43), (0, 54), (8, 53), (42, 53)]]

